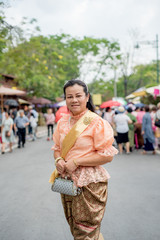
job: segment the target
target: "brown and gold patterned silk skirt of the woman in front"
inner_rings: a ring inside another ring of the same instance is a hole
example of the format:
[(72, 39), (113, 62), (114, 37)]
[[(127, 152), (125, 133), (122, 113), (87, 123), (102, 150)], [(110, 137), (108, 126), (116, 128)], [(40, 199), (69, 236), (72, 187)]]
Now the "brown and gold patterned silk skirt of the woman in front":
[(107, 182), (90, 183), (79, 196), (61, 194), (74, 240), (98, 240), (107, 202)]

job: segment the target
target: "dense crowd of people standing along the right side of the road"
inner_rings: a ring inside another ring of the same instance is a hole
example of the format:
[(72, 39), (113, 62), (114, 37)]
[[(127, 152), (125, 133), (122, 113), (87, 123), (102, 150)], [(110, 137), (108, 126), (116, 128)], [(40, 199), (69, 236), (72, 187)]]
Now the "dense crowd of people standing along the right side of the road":
[(160, 103), (151, 108), (147, 105), (107, 107), (97, 113), (112, 126), (120, 154), (124, 151), (130, 154), (134, 149), (142, 149), (142, 154), (148, 151), (155, 154), (160, 148), (160, 126), (155, 125), (156, 119), (160, 120)]

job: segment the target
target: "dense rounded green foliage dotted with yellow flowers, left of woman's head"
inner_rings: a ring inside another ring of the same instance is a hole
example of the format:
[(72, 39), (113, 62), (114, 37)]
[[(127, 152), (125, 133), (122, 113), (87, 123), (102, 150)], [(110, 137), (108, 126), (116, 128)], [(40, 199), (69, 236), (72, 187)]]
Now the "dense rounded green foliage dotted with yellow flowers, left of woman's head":
[(55, 99), (62, 94), (66, 79), (78, 77), (78, 60), (73, 49), (56, 37), (33, 37), (10, 48), (0, 71), (14, 74), (30, 95)]

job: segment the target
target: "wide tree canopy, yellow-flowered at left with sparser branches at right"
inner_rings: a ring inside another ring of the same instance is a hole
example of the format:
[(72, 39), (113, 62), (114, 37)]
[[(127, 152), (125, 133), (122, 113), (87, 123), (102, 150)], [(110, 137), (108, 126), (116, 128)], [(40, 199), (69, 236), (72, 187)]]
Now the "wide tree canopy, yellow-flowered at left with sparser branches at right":
[[(101, 67), (107, 64), (105, 61), (112, 60), (117, 47), (116, 43), (104, 39), (75, 39), (66, 34), (35, 36), (10, 47), (4, 53), (0, 70), (14, 73), (18, 85), (29, 94), (53, 100), (63, 94), (66, 80), (80, 77), (80, 68), (88, 54), (95, 55)], [(105, 60), (99, 63), (102, 48), (106, 52)]]

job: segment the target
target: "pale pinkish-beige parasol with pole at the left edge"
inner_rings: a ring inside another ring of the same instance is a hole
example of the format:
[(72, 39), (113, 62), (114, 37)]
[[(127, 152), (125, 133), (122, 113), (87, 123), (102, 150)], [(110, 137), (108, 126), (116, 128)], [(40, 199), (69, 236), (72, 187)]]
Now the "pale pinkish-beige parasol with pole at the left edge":
[(0, 86), (0, 96), (1, 96), (1, 110), (3, 111), (3, 96), (24, 96), (26, 95), (25, 91), (18, 89), (7, 88)]

